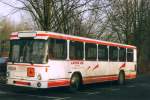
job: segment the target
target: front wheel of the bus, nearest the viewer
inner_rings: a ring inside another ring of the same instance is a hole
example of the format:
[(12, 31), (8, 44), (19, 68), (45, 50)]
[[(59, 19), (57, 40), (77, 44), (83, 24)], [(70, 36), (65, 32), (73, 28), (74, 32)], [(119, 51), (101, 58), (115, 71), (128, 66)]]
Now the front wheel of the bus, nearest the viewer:
[(71, 80), (70, 80), (70, 90), (72, 92), (75, 92), (77, 90), (80, 89), (81, 87), (81, 77), (79, 74), (74, 74), (72, 77), (71, 77)]

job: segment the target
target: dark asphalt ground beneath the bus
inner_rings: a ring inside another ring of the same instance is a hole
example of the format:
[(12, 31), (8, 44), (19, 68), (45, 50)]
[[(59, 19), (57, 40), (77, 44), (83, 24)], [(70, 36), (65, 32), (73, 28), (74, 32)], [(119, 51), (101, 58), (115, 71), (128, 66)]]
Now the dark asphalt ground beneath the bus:
[(67, 88), (34, 90), (0, 83), (0, 100), (150, 100), (150, 75), (119, 86), (115, 82), (87, 85), (71, 93)]

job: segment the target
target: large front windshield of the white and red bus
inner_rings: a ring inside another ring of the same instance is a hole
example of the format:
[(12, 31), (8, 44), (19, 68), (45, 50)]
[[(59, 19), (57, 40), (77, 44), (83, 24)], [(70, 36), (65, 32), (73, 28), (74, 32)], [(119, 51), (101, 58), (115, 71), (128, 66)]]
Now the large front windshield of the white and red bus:
[(9, 61), (16, 63), (46, 63), (48, 43), (46, 40), (12, 40)]

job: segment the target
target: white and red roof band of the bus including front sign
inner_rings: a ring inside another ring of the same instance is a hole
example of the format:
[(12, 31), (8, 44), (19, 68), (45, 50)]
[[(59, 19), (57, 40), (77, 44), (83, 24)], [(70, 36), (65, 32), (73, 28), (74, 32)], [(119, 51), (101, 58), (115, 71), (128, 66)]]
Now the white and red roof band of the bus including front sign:
[(136, 49), (136, 47), (132, 45), (102, 41), (102, 40), (97, 40), (97, 39), (90, 39), (86, 37), (66, 35), (66, 34), (56, 33), (56, 32), (47, 32), (47, 31), (13, 32), (10, 36), (10, 39), (14, 40), (14, 39), (20, 39), (20, 38), (27, 38), (27, 37), (33, 37), (34, 39), (45, 39), (45, 40), (48, 38), (56, 38), (56, 39), (65, 39), (65, 40), (72, 40), (72, 41), (79, 41), (79, 42), (86, 42), (86, 43), (95, 43), (95, 44), (101, 44), (101, 45)]

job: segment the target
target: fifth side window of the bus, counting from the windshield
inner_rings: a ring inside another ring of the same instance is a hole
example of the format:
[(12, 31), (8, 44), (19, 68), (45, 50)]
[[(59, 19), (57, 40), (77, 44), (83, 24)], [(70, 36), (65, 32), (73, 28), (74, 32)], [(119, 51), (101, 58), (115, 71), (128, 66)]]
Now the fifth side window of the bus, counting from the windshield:
[(109, 47), (109, 60), (117, 61), (118, 60), (118, 47)]

